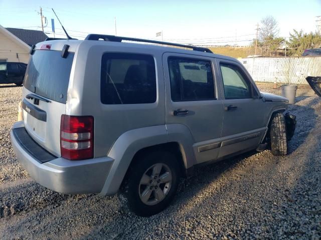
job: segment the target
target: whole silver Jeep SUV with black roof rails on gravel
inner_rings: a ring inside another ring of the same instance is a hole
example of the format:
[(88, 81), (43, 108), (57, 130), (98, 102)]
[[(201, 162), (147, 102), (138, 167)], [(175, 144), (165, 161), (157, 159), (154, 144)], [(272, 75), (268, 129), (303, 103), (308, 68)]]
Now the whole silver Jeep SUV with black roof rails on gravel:
[(119, 192), (148, 216), (170, 204), (196, 165), (266, 147), (287, 153), (288, 100), (259, 92), (234, 58), (97, 34), (40, 42), (30, 54), (12, 144), (54, 191)]

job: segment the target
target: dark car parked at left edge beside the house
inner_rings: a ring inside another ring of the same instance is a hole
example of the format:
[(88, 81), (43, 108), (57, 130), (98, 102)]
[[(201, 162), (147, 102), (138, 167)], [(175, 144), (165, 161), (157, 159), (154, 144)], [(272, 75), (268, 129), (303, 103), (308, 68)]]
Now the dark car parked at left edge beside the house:
[(22, 85), (27, 64), (23, 62), (0, 62), (0, 83)]

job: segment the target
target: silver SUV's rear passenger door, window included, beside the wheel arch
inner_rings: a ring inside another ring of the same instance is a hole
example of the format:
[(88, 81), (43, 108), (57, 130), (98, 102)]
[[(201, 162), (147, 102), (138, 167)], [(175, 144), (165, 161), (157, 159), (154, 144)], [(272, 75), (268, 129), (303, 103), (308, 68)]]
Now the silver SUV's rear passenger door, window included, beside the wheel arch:
[(196, 163), (216, 159), (223, 105), (214, 58), (166, 52), (163, 65), (168, 133), (183, 125), (193, 136)]

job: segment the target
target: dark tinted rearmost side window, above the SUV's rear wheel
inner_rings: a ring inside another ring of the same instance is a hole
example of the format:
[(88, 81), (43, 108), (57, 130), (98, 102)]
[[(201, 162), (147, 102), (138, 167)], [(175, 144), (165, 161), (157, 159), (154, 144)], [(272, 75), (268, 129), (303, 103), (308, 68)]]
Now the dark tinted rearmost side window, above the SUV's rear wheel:
[(151, 55), (104, 53), (101, 61), (101, 102), (135, 104), (156, 101), (155, 62)]

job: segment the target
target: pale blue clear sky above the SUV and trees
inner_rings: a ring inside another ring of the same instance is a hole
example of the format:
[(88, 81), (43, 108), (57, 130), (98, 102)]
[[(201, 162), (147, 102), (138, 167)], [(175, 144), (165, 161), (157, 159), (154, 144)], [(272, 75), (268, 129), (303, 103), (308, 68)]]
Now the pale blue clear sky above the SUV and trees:
[(279, 36), (289, 37), (293, 28), (315, 31), (321, 15), (321, 0), (0, 0), (0, 25), (41, 30), (40, 6), (48, 36), (54, 18), (55, 36), (65, 37), (54, 8), (78, 39), (101, 33), (205, 45), (246, 45), (267, 15), (277, 20)]

